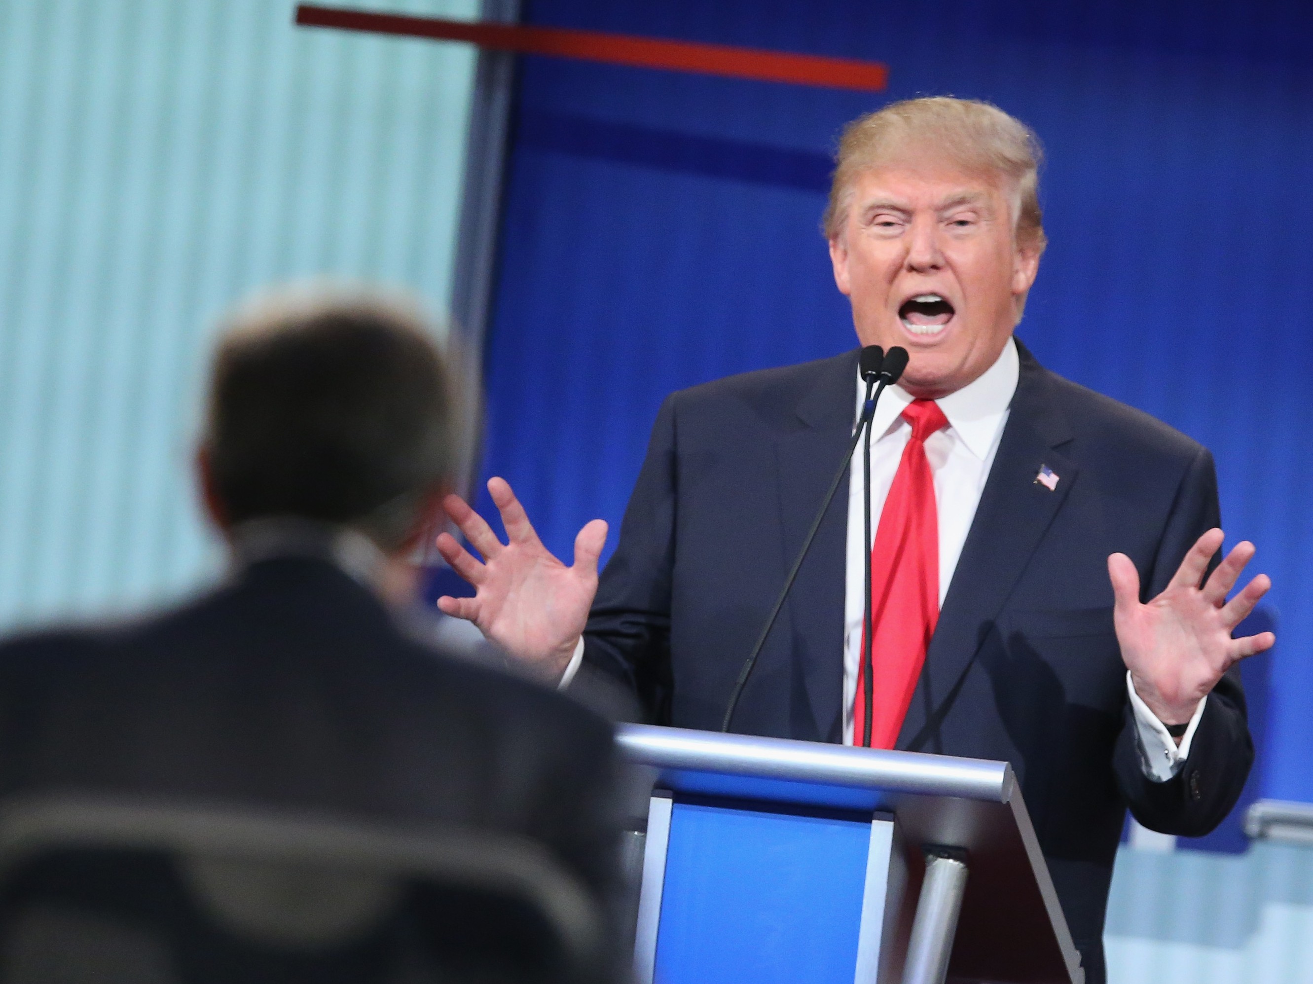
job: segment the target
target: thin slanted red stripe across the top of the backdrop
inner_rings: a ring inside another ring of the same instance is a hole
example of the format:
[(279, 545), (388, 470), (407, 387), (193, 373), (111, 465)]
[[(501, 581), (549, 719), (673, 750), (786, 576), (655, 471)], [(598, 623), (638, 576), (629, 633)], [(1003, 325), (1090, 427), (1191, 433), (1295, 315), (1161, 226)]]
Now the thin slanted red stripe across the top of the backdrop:
[(889, 67), (878, 62), (641, 38), (596, 30), (530, 28), (520, 24), (470, 24), (435, 17), (344, 11), (312, 4), (297, 7), (297, 24), (306, 28), (339, 28), (412, 38), (466, 41), (482, 47), (532, 55), (579, 58), (588, 62), (727, 75), (735, 79), (785, 81), (797, 85), (877, 91), (885, 88), (889, 81)]

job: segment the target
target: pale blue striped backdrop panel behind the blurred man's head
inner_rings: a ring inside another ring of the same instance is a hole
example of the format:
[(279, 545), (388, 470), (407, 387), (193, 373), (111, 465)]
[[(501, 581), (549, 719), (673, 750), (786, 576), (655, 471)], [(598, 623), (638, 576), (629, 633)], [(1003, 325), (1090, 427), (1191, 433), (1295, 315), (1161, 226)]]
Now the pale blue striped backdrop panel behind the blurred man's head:
[(215, 569), (190, 445), (235, 298), (332, 275), (446, 309), (474, 51), (293, 8), (0, 3), (0, 628)]

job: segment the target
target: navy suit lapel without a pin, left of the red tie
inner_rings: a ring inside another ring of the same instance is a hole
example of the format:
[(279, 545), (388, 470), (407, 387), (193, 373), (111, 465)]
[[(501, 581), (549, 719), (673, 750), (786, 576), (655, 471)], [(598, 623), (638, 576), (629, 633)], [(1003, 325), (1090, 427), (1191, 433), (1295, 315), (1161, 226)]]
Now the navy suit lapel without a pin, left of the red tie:
[[(784, 570), (792, 566), (852, 436), (857, 399), (857, 352), (827, 360), (815, 386), (797, 405), (796, 430), (781, 434), (779, 469)], [(785, 610), (792, 627), (794, 671), (801, 673), (814, 721), (790, 723), (790, 733), (831, 738), (843, 702), (843, 603), (848, 535), (848, 482), (842, 481)], [(785, 619), (781, 617), (781, 623)], [(784, 624), (776, 632), (786, 631)], [(800, 733), (811, 732), (813, 734)]]

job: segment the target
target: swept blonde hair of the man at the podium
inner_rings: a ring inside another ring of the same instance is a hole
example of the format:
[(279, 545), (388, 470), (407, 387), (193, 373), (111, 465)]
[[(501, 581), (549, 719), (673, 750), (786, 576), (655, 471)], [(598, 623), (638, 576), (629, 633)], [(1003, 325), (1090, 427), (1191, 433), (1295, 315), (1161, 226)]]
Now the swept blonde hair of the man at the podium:
[(1048, 238), (1039, 196), (1044, 151), (1039, 138), (995, 105), (952, 96), (892, 102), (844, 127), (822, 219), (827, 239), (838, 236), (848, 221), (857, 175), (893, 163), (913, 147), (931, 148), (965, 171), (1003, 177), (1014, 196), (1018, 243), (1044, 252)]

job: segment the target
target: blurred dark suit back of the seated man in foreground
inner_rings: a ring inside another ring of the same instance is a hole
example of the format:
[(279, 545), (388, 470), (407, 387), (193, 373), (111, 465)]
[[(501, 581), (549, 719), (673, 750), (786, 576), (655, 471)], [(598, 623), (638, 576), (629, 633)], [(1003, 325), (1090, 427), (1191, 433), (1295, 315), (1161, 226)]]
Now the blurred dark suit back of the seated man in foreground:
[(130, 792), (467, 824), (613, 882), (609, 725), (402, 632), (311, 558), (134, 624), (0, 645), (0, 795)]

